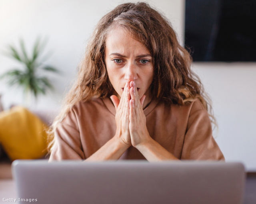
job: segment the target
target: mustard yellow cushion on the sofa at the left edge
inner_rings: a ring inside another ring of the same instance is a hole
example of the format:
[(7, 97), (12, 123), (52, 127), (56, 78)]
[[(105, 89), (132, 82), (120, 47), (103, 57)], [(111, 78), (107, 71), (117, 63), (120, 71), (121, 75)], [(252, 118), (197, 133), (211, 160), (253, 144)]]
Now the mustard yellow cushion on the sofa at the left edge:
[(46, 155), (46, 128), (40, 118), (22, 106), (0, 112), (0, 143), (11, 160)]

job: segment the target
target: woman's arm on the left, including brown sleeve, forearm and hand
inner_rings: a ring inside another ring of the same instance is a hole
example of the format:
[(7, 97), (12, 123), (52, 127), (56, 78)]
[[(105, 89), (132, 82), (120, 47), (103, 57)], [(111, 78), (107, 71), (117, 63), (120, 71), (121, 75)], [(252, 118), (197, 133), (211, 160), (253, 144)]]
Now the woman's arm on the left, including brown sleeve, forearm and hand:
[(128, 129), (129, 118), (125, 117), (129, 110), (128, 104), (125, 104), (125, 99), (128, 99), (126, 97), (129, 96), (129, 94), (124, 92), (120, 102), (114, 98), (116, 102), (116, 134), (88, 158), (85, 158), (82, 149), (76, 114), (74, 110), (70, 110), (55, 131), (55, 141), (49, 161), (60, 161), (63, 159), (85, 159), (86, 161), (119, 159), (124, 151), (131, 146)]

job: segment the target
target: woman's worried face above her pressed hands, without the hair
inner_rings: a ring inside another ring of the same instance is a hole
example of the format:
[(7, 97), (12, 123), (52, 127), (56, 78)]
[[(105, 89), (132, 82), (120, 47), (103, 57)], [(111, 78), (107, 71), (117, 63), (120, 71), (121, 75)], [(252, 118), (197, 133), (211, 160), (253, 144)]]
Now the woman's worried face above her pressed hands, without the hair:
[(134, 81), (144, 105), (150, 102), (149, 86), (153, 80), (152, 56), (139, 41), (122, 28), (113, 29), (106, 38), (105, 62), (109, 80), (120, 98), (126, 82)]

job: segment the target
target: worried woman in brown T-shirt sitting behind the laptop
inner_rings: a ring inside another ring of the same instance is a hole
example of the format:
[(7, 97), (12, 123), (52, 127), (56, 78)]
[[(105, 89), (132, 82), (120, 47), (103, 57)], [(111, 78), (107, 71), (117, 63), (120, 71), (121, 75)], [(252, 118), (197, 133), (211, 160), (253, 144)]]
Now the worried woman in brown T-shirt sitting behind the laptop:
[(168, 20), (148, 4), (114, 8), (97, 24), (52, 126), (50, 161), (224, 160), (190, 64)]

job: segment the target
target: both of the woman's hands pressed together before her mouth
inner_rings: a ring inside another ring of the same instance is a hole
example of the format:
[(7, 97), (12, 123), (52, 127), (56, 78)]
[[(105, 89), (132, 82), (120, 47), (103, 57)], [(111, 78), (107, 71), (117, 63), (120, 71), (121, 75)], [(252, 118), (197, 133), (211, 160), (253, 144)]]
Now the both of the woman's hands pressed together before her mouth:
[(137, 86), (134, 81), (126, 82), (120, 100), (110, 96), (116, 108), (116, 135), (129, 147), (137, 147), (148, 142), (151, 137), (146, 127), (146, 116), (143, 112), (145, 95), (139, 98)]

